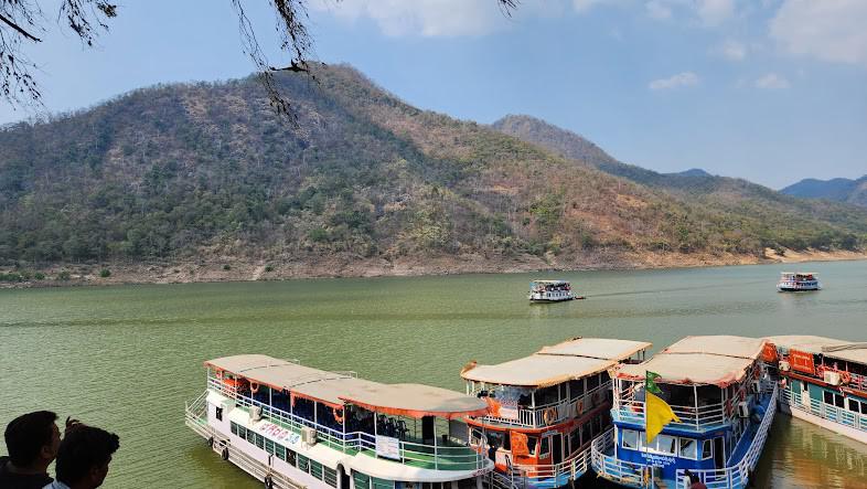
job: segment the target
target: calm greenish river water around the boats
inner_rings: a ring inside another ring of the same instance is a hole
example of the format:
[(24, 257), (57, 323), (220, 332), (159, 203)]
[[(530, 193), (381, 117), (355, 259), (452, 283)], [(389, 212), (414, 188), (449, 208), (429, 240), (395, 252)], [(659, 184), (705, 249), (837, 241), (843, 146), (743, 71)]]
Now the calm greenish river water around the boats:
[[(469, 360), (577, 336), (647, 340), (654, 351), (687, 334), (867, 340), (867, 262), (798, 266), (825, 287), (801, 295), (774, 290), (783, 268), (793, 267), (0, 290), (0, 423), (49, 408), (118, 433), (108, 488), (258, 488), (183, 425), (206, 359), (266, 353), (462, 390)], [(555, 276), (587, 300), (528, 305), (531, 278)], [(867, 446), (781, 415), (757, 479), (867, 488)]]

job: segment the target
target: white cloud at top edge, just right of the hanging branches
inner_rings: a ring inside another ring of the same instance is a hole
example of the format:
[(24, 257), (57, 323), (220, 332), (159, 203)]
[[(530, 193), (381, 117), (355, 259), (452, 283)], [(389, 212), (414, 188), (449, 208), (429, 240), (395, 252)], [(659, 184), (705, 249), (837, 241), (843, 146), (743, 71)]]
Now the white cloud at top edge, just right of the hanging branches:
[(509, 25), (494, 0), (313, 0), (310, 7), (349, 21), (371, 19), (390, 36), (482, 35)]

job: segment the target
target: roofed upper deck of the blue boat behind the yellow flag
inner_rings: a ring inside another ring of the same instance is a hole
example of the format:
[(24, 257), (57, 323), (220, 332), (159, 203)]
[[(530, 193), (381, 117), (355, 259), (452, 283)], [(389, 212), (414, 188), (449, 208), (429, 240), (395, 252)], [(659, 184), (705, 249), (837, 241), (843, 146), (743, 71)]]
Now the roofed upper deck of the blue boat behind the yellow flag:
[(645, 425), (644, 382), (653, 372), (660, 375), (655, 382), (663, 400), (681, 419), (666, 430), (728, 427), (738, 403), (773, 389), (759, 361), (764, 344), (743, 337), (687, 337), (641, 364), (623, 364), (617, 369), (611, 416), (616, 423)]

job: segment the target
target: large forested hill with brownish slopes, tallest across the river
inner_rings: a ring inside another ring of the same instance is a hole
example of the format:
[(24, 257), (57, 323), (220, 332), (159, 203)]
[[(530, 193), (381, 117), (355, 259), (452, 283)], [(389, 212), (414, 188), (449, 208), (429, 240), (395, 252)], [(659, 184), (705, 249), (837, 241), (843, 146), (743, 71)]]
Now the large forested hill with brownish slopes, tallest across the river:
[(633, 266), (854, 248), (867, 232), (864, 214), (793, 219), (737, 199), (720, 212), (417, 109), (346, 66), (317, 78), (279, 78), (298, 127), (247, 78), (4, 128), (0, 261)]

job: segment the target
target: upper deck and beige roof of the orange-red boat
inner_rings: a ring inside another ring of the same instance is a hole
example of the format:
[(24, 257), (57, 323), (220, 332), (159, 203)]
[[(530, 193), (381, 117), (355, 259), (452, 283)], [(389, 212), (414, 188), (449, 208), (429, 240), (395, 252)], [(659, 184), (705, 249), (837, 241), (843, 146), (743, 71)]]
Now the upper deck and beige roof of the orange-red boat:
[(640, 361), (650, 347), (642, 341), (575, 338), (504, 363), (472, 362), (461, 376), (467, 393), (492, 407), (478, 422), (538, 429), (607, 402), (608, 370), (621, 361)]

